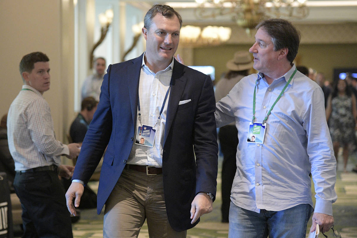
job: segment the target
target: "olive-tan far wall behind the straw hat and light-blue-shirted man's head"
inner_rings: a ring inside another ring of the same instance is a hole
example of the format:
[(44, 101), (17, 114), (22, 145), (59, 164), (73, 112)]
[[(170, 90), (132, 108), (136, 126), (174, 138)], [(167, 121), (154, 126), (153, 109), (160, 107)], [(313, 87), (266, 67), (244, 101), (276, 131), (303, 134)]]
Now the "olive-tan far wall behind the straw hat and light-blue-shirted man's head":
[[(226, 62), (233, 59), (237, 50), (249, 50), (251, 44), (219, 45), (193, 49), (194, 65), (212, 65), (216, 80), (226, 72)], [(325, 73), (332, 80), (334, 68), (357, 68), (357, 44), (301, 44), (296, 57), (298, 65), (311, 67)]]

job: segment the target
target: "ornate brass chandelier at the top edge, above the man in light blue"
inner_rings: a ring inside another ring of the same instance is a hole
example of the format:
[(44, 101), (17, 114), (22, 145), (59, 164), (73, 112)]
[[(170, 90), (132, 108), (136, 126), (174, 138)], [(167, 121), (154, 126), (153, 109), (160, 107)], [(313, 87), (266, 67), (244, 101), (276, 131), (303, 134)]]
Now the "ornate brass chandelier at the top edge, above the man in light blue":
[(196, 0), (198, 19), (230, 15), (238, 25), (253, 29), (263, 18), (307, 17), (307, 0)]

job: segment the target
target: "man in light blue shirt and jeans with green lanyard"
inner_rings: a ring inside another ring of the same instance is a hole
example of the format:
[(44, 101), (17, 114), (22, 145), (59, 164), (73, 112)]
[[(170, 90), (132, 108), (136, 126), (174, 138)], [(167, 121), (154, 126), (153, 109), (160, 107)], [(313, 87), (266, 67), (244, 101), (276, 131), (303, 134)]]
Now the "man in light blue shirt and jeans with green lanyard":
[(228, 237), (305, 237), (313, 212), (310, 172), (310, 231), (318, 223), (326, 232), (337, 196), (323, 92), (292, 63), (300, 34), (290, 22), (265, 20), (256, 29), (249, 51), (259, 73), (216, 104), (217, 127), (235, 121), (239, 138)]

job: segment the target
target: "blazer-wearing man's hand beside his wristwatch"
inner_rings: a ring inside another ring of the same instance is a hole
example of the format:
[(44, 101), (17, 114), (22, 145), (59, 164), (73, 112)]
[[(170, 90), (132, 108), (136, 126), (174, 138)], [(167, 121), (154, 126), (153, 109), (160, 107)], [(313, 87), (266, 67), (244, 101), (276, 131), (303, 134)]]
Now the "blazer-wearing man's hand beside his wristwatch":
[(200, 216), (213, 210), (212, 199), (206, 193), (197, 193), (191, 203), (191, 224), (195, 223)]

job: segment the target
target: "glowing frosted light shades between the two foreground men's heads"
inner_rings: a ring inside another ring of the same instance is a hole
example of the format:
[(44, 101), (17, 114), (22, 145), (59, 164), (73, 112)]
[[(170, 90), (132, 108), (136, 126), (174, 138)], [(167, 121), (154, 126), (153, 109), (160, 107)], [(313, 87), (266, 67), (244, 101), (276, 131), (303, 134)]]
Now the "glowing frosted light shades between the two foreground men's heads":
[(218, 45), (231, 37), (230, 27), (206, 26), (201, 30), (198, 26), (183, 26), (180, 31), (180, 42), (194, 45)]

